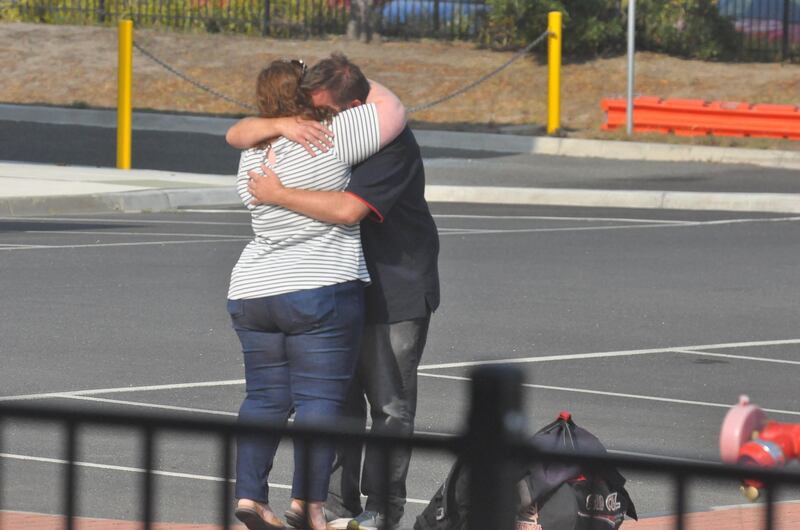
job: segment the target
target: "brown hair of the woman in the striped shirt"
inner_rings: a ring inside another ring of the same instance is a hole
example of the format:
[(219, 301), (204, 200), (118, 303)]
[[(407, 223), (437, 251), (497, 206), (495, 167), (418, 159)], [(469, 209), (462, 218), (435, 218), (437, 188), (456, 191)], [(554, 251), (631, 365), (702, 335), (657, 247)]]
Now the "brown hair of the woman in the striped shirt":
[(310, 91), (300, 86), (303, 70), (299, 61), (286, 60), (272, 61), (261, 70), (256, 81), (256, 101), (262, 118), (299, 116), (316, 121), (331, 118), (331, 110), (314, 107)]

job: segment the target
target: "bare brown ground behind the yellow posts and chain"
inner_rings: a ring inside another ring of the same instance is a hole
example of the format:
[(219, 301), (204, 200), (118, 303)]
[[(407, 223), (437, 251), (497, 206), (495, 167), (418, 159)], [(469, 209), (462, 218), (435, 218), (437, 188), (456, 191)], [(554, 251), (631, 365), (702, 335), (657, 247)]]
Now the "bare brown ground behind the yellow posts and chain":
[[(116, 105), (116, 29), (0, 22), (0, 101), (107, 107)], [(344, 38), (275, 40), (224, 34), (137, 29), (136, 41), (212, 89), (252, 104), (258, 70), (279, 57), (313, 63), (342, 51), (365, 73), (394, 89), (409, 107), (447, 95), (503, 64), (511, 53), (463, 42), (361, 44)], [(640, 53), (636, 92), (642, 95), (748, 103), (798, 104), (800, 65), (709, 63)], [(603, 97), (622, 97), (624, 56), (566, 64), (562, 126), (569, 136), (622, 138), (600, 131)], [(134, 52), (137, 109), (241, 115), (248, 111), (205, 93)], [(539, 133), (547, 116), (547, 66), (533, 57), (515, 62), (475, 89), (411, 117), (420, 127)], [(656, 141), (800, 149), (800, 142), (756, 139)]]

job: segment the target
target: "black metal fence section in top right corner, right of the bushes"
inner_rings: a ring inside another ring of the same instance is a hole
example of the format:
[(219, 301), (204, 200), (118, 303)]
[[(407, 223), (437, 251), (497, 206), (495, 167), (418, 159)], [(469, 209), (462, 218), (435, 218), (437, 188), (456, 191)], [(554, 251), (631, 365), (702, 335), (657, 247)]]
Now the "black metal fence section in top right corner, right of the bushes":
[(800, 58), (800, 0), (719, 0), (741, 35), (745, 56)]

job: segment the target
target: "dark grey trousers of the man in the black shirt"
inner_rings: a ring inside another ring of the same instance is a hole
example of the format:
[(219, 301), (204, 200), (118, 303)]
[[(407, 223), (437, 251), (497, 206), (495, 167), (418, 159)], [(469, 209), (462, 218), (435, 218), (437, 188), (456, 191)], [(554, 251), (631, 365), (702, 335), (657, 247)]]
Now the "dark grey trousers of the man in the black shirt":
[[(414, 432), (417, 367), (425, 348), (429, 323), (430, 315), (365, 326), (357, 375), (345, 406), (345, 415), (352, 425), (366, 428), (366, 402), (369, 402), (372, 432), (403, 435)], [(361, 455), (362, 448), (357, 446), (341, 447), (336, 452), (327, 507), (343, 517), (361, 512), (362, 492), (367, 497), (366, 510), (381, 513), (386, 510), (383, 455), (379, 448), (367, 446), (363, 470)], [(392, 524), (403, 515), (410, 459), (410, 450), (392, 452), (388, 484)]]

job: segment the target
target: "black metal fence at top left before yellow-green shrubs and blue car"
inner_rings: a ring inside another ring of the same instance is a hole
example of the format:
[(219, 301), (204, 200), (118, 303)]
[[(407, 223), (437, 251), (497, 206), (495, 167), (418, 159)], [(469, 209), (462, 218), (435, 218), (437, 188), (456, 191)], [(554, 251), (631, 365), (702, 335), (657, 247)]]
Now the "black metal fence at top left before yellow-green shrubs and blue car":
[[(343, 34), (360, 0), (4, 0), (0, 18), (62, 24), (141, 27), (310, 37)], [(485, 0), (365, 0), (374, 30), (395, 37), (475, 37)], [(351, 3), (353, 5), (351, 5)], [(353, 21), (353, 22), (351, 22)]]

